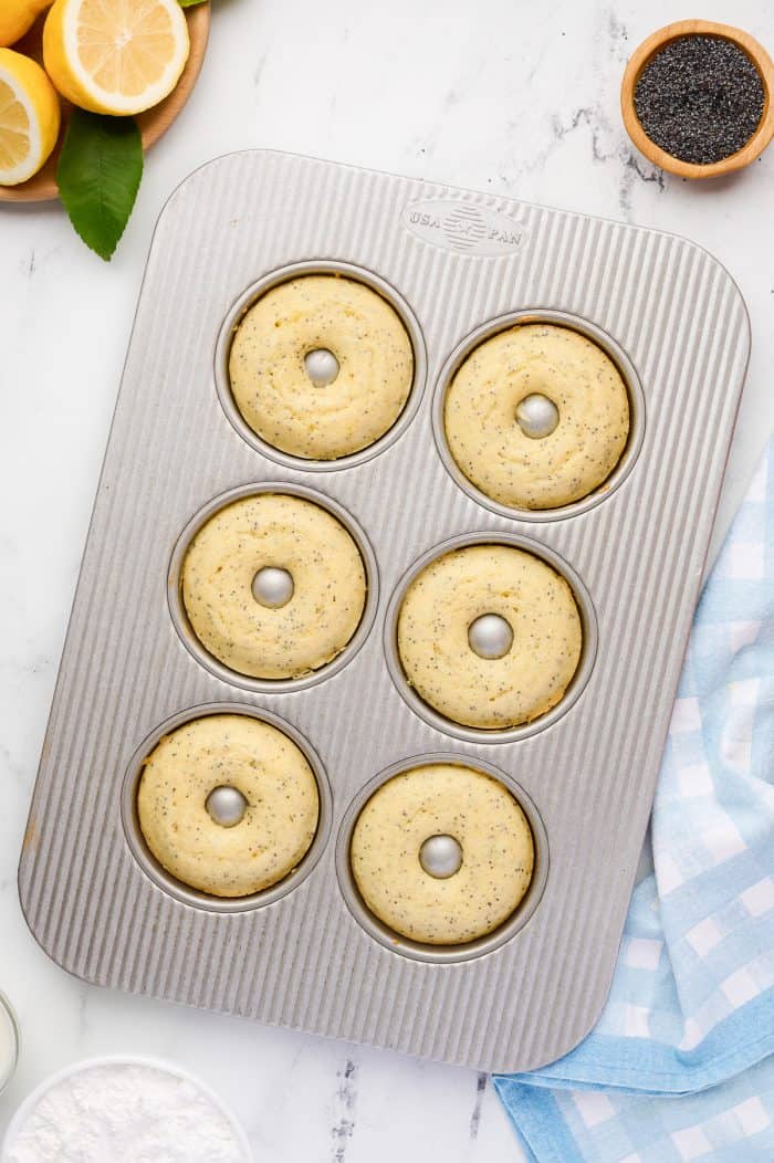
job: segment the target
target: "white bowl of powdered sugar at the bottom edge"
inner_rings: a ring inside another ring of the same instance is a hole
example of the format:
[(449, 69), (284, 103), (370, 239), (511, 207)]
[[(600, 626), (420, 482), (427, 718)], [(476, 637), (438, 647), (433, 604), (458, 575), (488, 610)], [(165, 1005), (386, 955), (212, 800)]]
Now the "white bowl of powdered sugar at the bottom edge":
[(218, 1096), (152, 1058), (76, 1063), (22, 1103), (0, 1163), (254, 1163)]

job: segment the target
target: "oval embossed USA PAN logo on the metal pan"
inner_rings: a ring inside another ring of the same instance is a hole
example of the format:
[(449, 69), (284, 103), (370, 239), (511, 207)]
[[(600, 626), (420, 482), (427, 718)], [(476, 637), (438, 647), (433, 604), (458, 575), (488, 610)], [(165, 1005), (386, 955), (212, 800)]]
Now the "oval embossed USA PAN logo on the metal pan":
[(424, 242), (464, 255), (511, 255), (525, 237), (507, 214), (453, 199), (411, 202), (403, 221)]

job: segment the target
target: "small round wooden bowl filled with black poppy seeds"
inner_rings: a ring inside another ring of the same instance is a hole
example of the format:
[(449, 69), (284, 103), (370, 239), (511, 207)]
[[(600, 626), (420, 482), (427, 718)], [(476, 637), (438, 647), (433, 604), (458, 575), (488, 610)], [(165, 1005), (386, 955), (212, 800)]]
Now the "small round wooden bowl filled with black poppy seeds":
[(654, 165), (716, 178), (754, 162), (774, 137), (774, 64), (739, 28), (679, 21), (632, 55), (620, 107), (629, 136)]

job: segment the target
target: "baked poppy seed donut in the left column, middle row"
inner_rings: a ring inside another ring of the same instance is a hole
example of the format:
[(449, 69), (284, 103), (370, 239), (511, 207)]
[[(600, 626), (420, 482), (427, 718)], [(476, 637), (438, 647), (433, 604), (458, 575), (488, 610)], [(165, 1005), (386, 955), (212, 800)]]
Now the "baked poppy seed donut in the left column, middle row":
[(219, 509), (182, 570), (193, 633), (223, 665), (254, 678), (298, 678), (339, 655), (365, 606), (365, 566), (341, 521), (290, 493)]

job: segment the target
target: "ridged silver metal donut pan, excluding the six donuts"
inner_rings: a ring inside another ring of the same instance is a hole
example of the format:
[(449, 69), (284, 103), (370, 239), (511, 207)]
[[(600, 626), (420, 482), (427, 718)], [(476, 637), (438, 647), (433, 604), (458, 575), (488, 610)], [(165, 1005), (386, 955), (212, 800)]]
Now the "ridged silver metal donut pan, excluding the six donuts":
[[(395, 427), (341, 462), (265, 448), (225, 376), (255, 294), (312, 271), (365, 281), (414, 348)], [(477, 495), (439, 427), (471, 345), (525, 319), (608, 350), (632, 414), (610, 479), (548, 513)], [(277, 152), (187, 178), (148, 261), (21, 856), (43, 949), (100, 985), (480, 1069), (577, 1044), (615, 966), (748, 348), (734, 283), (674, 235)], [(176, 571), (225, 497), (283, 487), (349, 526), (371, 606), (340, 665), (254, 686), (186, 637)], [(495, 737), (414, 701), (391, 619), (418, 562), (510, 538), (566, 573), (585, 641), (564, 699)], [(133, 809), (143, 750), (222, 705), (285, 725), (324, 800), (290, 883), (236, 907), (170, 882)], [(363, 912), (346, 837), (375, 780), (439, 757), (521, 794), (537, 878), (503, 930), (428, 952)]]

